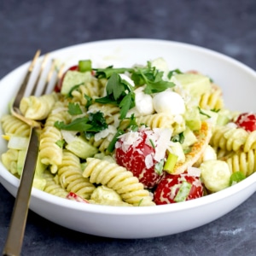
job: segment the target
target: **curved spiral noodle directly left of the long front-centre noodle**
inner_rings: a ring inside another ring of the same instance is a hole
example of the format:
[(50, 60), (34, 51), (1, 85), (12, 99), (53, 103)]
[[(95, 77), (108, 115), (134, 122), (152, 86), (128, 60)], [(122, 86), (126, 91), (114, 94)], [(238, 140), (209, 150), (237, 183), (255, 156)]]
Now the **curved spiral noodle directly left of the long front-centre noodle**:
[(63, 150), (63, 158), (57, 176), (63, 189), (76, 193), (84, 199), (89, 199), (95, 189), (89, 179), (83, 177), (79, 157), (66, 149)]

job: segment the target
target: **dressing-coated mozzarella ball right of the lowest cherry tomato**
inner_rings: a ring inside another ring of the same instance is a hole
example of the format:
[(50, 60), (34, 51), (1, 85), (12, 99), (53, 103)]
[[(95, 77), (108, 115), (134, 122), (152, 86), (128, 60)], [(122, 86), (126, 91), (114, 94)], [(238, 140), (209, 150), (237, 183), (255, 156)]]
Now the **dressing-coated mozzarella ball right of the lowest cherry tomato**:
[(199, 167), (201, 180), (206, 188), (212, 192), (218, 192), (230, 186), (230, 168), (222, 160), (207, 160)]

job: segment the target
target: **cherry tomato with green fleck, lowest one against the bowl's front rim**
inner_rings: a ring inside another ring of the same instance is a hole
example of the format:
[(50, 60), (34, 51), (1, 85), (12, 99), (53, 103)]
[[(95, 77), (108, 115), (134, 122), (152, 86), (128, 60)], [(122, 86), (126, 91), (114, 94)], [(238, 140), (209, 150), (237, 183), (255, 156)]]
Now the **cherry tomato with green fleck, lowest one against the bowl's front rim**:
[(157, 205), (189, 201), (203, 196), (203, 185), (200, 177), (188, 173), (167, 174), (154, 190), (154, 202)]

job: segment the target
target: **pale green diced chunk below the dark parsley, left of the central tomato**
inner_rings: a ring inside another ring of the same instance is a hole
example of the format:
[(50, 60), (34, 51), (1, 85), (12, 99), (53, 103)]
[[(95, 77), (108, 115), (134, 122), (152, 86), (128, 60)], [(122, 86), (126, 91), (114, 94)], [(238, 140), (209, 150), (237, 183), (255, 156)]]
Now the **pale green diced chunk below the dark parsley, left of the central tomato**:
[(98, 149), (88, 143), (84, 137), (75, 137), (71, 143), (67, 143), (66, 148), (80, 158), (86, 159), (98, 152)]

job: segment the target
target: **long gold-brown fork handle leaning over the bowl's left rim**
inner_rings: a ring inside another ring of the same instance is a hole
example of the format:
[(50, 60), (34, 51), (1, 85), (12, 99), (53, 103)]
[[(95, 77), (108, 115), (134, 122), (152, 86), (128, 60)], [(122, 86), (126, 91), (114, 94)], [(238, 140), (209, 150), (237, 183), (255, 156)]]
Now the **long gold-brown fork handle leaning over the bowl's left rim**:
[(26, 160), (20, 178), (20, 186), (15, 199), (15, 206), (10, 221), (9, 233), (3, 249), (3, 255), (20, 255), (26, 218), (28, 213), (32, 182), (38, 160), (38, 133), (35, 127), (31, 128), (31, 136), (26, 153)]

